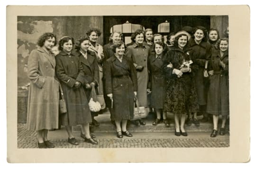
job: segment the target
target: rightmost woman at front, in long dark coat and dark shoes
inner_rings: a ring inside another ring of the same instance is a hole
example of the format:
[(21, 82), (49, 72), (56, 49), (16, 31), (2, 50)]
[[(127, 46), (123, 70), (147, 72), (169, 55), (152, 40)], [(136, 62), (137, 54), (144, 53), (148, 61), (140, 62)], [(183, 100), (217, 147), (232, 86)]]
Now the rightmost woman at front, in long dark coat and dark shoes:
[(210, 137), (216, 137), (218, 133), (219, 115), (222, 116), (219, 135), (225, 135), (225, 124), (229, 115), (229, 39), (221, 38), (217, 44), (219, 50), (212, 53), (209, 66), (207, 113), (213, 115)]

